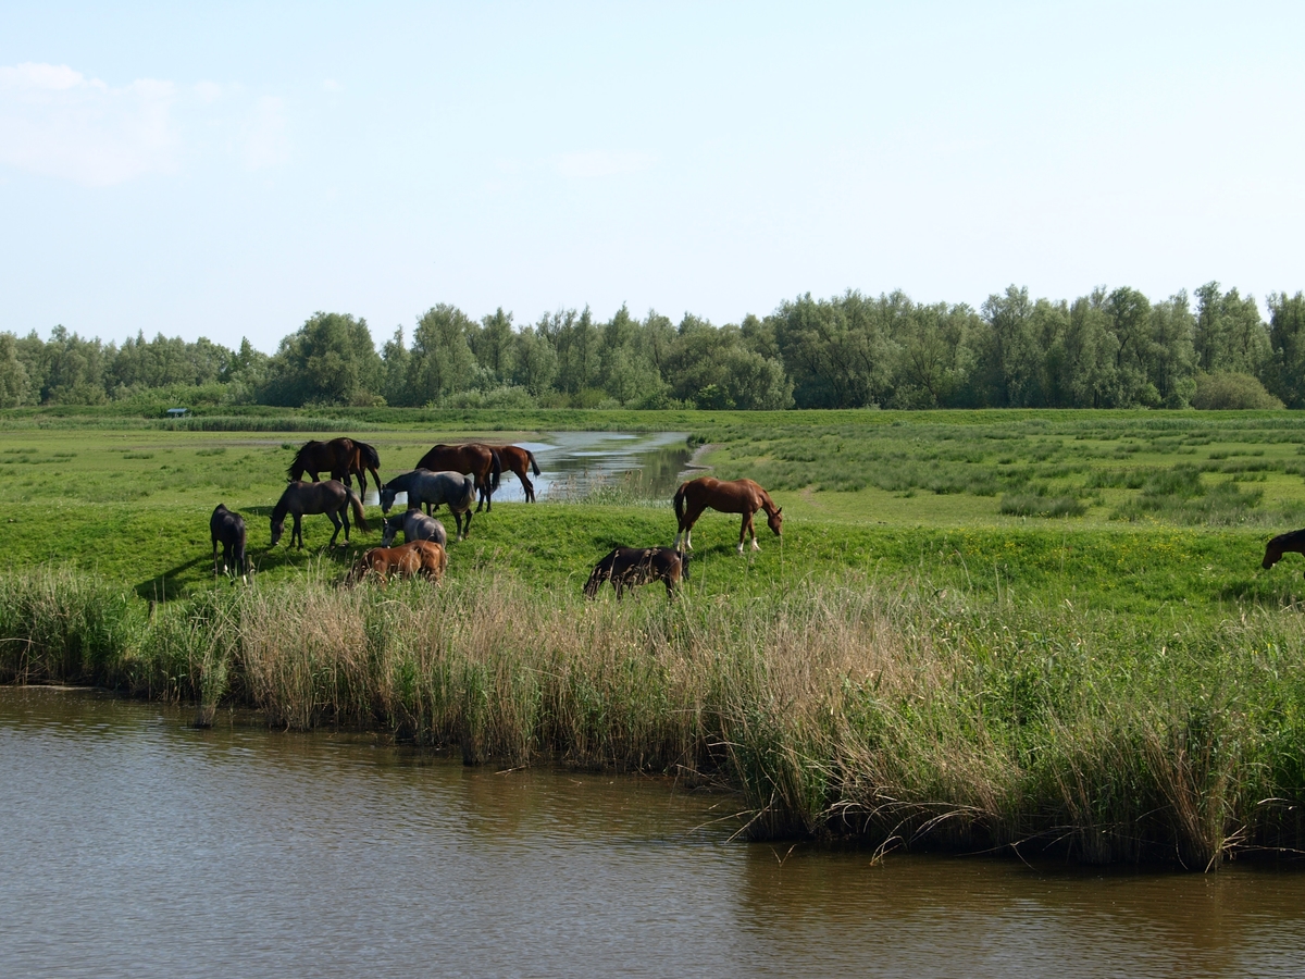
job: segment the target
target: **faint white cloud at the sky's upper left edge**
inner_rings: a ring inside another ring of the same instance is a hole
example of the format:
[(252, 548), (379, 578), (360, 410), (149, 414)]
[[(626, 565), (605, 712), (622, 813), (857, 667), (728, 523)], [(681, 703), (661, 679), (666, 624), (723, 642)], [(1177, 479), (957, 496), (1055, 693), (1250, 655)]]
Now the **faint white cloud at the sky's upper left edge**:
[(68, 65), (0, 68), (0, 163), (87, 187), (176, 164), (172, 82), (110, 87)]

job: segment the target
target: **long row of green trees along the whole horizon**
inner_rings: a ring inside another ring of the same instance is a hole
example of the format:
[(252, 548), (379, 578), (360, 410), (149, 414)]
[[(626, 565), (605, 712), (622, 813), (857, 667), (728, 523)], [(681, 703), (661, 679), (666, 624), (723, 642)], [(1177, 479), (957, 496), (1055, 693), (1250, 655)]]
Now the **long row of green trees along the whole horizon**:
[(502, 308), (475, 320), (440, 304), (380, 350), (365, 320), (316, 313), (271, 356), (248, 339), (119, 346), (56, 326), (46, 341), (0, 333), (0, 406), (167, 390), (286, 407), (1305, 407), (1305, 294), (1271, 294), (1268, 311), (1218, 282), (1159, 302), (1010, 286), (979, 309), (850, 290), (723, 326), (624, 305), (518, 326)]

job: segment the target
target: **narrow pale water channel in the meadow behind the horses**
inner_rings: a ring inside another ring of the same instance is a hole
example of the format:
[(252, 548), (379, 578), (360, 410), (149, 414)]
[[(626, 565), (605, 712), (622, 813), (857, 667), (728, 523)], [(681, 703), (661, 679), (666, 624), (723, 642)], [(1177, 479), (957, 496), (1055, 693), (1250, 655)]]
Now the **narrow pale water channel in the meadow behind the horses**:
[[(539, 500), (582, 497), (599, 487), (620, 487), (634, 496), (669, 496), (681, 482), (692, 450), (685, 432), (548, 432), (543, 441), (517, 441), (530, 449), (539, 463), (540, 475), (530, 475)], [(423, 450), (407, 449), (406, 456), (419, 458)], [(382, 453), (385, 478), (402, 471), (389, 467), (392, 453)], [(411, 465), (411, 462), (406, 462)], [(495, 500), (521, 503), (526, 492), (509, 470)], [(380, 497), (368, 492), (368, 504)], [(407, 501), (399, 493), (398, 503)]]

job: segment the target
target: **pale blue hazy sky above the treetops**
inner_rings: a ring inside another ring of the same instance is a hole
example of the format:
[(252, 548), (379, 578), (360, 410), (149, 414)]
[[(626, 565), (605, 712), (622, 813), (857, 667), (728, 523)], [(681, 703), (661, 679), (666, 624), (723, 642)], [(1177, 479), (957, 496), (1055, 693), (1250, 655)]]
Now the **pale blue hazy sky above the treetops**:
[(1305, 288), (1305, 4), (0, 0), (0, 330)]

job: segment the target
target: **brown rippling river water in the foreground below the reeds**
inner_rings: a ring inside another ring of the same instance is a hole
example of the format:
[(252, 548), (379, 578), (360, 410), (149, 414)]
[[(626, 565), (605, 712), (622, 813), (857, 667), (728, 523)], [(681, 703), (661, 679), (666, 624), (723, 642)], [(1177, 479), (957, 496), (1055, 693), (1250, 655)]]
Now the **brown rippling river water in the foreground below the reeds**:
[(731, 842), (728, 795), (0, 688), (0, 975), (1288, 976), (1305, 875)]

